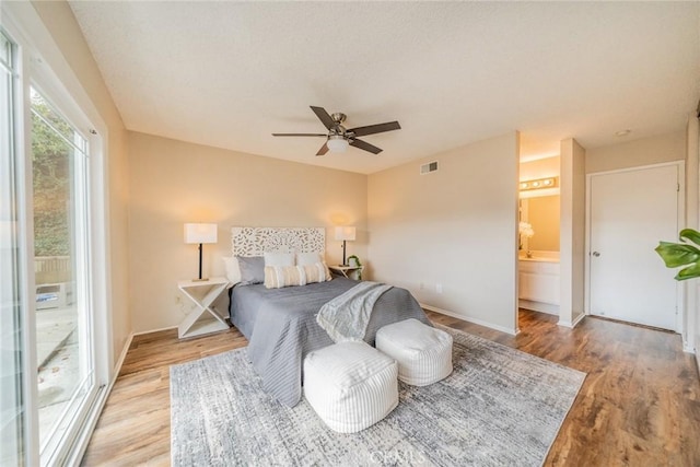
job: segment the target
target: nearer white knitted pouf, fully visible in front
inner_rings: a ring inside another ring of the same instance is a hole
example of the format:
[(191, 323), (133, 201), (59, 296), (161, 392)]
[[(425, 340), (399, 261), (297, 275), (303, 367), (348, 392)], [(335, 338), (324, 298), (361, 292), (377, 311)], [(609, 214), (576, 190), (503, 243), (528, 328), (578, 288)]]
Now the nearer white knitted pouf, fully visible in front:
[(340, 342), (304, 359), (304, 396), (331, 430), (354, 433), (398, 405), (398, 367), (365, 342)]

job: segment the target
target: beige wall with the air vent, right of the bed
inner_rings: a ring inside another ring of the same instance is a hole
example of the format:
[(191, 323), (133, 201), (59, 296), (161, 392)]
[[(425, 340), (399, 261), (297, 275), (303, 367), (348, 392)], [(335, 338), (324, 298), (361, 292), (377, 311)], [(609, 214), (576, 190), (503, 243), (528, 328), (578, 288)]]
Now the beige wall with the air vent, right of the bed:
[[(513, 332), (517, 148), (513, 132), (370, 175), (373, 277), (423, 304)], [(432, 161), (439, 171), (420, 175)]]

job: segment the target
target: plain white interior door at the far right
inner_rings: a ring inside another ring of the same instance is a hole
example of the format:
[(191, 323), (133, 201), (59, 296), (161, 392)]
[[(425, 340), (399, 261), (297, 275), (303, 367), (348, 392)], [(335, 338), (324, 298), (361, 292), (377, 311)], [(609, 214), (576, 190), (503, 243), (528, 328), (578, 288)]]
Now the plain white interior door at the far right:
[(654, 248), (678, 235), (679, 171), (669, 164), (591, 176), (591, 314), (678, 330), (678, 284)]

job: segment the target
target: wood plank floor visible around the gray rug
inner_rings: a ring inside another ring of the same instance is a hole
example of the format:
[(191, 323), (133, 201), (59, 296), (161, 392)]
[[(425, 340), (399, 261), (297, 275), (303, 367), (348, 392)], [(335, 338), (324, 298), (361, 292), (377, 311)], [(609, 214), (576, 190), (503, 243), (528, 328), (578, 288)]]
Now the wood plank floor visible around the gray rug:
[[(678, 335), (592, 317), (568, 329), (521, 311), (514, 337), (429, 316), (587, 373), (545, 465), (700, 466), (700, 381)], [(246, 343), (235, 328), (184, 341), (176, 330), (135, 337), (83, 465), (168, 465), (168, 365)]]

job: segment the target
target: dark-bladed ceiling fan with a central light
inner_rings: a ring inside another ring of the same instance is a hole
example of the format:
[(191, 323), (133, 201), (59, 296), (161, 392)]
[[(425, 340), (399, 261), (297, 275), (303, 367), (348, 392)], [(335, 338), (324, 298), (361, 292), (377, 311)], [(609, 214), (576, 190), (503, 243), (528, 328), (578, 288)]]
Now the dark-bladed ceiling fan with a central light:
[(273, 137), (324, 137), (326, 142), (320, 147), (316, 155), (324, 155), (328, 151), (345, 152), (348, 145), (378, 154), (382, 150), (366, 141), (358, 139), (368, 135), (382, 133), (384, 131), (399, 130), (401, 126), (398, 121), (387, 121), (385, 124), (369, 125), (366, 127), (346, 128), (342, 122), (346, 120), (346, 114), (328, 114), (323, 107), (311, 106), (314, 114), (328, 129), (327, 133), (272, 133)]

